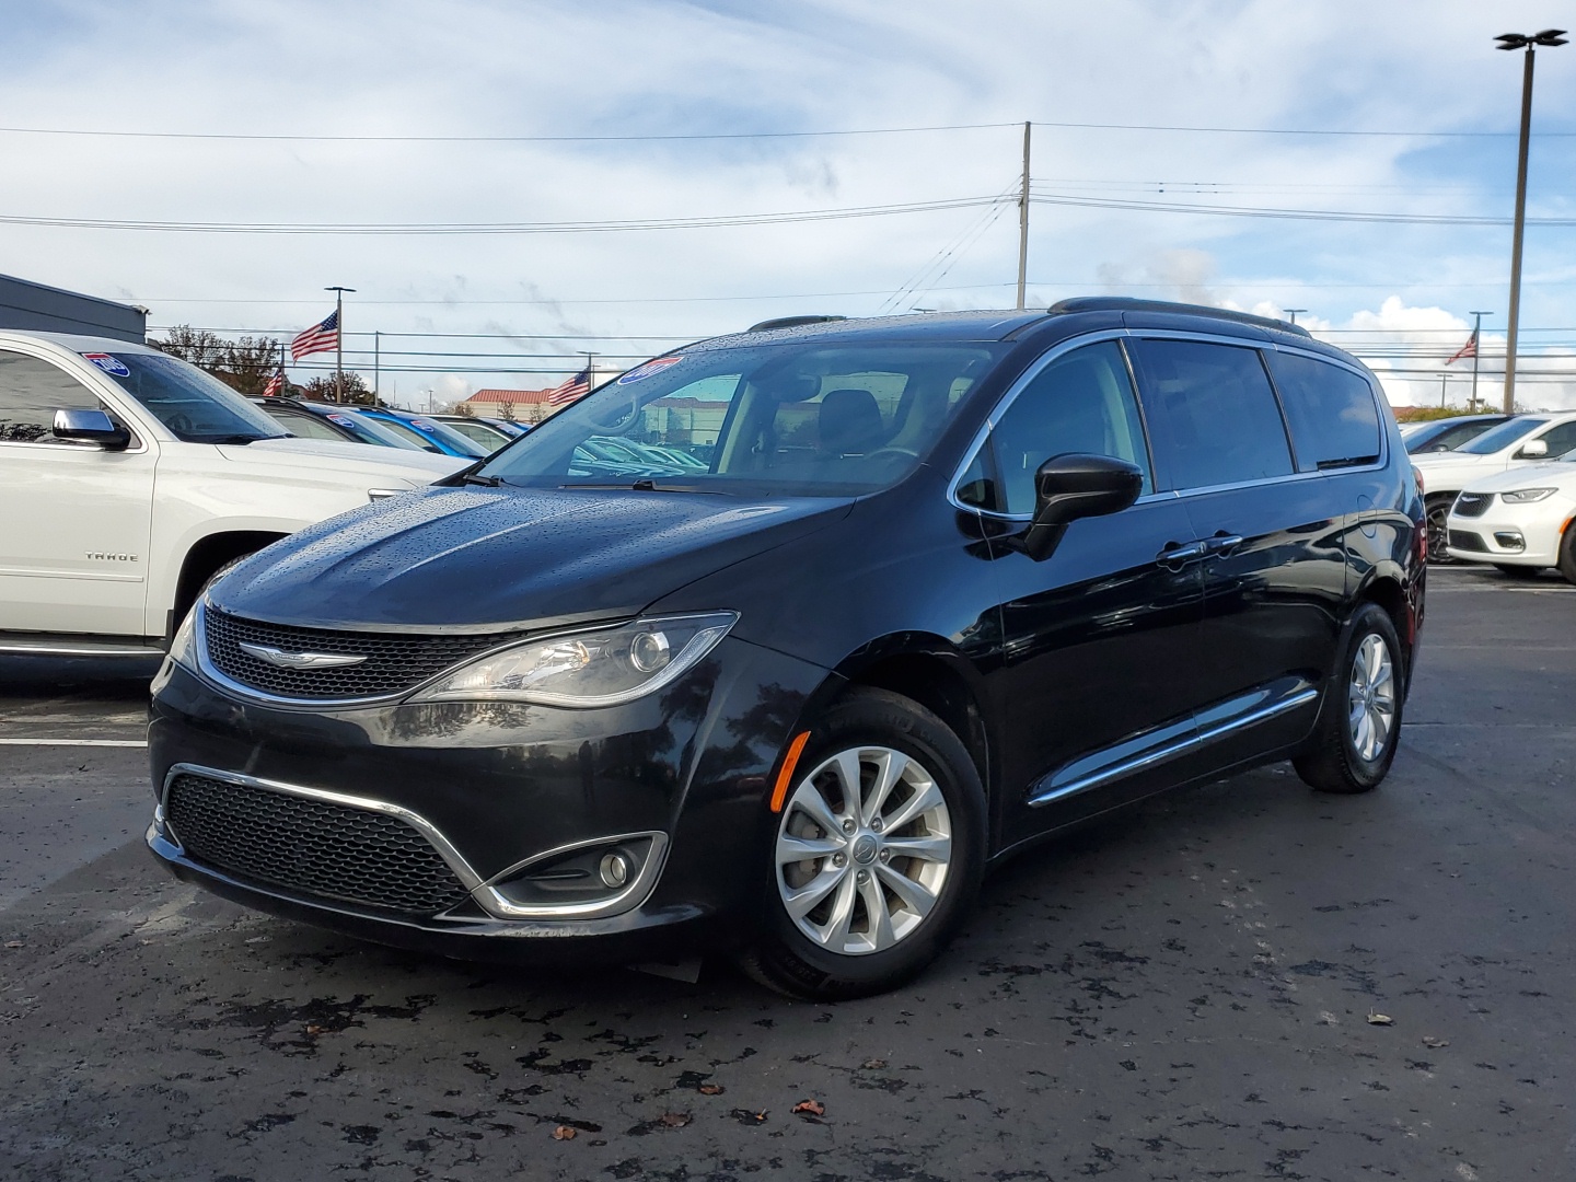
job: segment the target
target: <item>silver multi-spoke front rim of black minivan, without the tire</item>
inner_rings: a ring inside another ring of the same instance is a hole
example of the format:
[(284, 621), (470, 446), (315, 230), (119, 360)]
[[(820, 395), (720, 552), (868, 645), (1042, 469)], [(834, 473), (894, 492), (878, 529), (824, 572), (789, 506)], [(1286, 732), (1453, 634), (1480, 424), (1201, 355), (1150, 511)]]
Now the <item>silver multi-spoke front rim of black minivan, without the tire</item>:
[(840, 750), (799, 780), (777, 827), (777, 892), (816, 946), (848, 957), (911, 936), (952, 865), (935, 777), (892, 747)]

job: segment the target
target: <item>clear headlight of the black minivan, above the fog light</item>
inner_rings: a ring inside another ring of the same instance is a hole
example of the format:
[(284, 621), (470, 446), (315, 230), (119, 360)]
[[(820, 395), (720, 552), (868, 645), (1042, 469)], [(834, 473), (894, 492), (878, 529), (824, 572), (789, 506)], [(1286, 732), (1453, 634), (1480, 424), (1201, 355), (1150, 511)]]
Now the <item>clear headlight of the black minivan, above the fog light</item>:
[(526, 641), (460, 667), (410, 701), (621, 706), (692, 668), (738, 619), (738, 611), (660, 616)]

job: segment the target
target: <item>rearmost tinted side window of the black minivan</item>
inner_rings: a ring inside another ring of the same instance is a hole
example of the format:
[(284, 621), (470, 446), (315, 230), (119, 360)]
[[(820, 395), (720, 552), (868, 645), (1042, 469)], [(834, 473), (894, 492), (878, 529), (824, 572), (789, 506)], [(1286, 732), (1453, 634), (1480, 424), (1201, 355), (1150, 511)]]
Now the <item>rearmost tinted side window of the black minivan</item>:
[(1269, 353), (1302, 471), (1373, 463), (1384, 430), (1360, 374), (1295, 353)]

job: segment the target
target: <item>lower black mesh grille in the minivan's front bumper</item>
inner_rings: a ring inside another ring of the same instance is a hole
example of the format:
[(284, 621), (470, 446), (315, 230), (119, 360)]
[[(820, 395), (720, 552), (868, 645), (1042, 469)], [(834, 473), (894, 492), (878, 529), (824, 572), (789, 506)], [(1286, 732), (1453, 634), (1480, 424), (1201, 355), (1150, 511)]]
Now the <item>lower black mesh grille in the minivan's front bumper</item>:
[(435, 916), (470, 892), (397, 816), (183, 772), (165, 818), (186, 854), (232, 878), (296, 895)]

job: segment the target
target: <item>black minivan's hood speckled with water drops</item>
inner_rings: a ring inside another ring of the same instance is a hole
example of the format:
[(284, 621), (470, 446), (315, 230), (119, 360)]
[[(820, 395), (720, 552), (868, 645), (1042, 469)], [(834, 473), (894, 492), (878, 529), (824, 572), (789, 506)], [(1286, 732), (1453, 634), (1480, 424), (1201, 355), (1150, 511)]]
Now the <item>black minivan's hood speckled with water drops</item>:
[(629, 489), (430, 489), (268, 547), (217, 583), (213, 602), (252, 619), (361, 630), (632, 616), (695, 578), (815, 533), (851, 504)]

